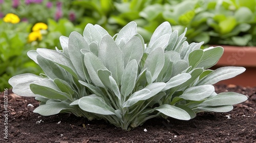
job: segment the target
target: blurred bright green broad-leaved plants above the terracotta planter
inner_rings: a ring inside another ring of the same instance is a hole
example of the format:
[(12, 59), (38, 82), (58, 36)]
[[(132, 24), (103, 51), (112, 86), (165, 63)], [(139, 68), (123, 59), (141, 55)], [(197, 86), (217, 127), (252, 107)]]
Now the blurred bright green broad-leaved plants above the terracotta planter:
[(138, 23), (138, 33), (145, 42), (163, 21), (178, 31), (187, 28), (188, 42), (253, 46), (255, 42), (256, 1), (118, 1), (118, 14), (111, 13), (108, 22), (124, 26)]

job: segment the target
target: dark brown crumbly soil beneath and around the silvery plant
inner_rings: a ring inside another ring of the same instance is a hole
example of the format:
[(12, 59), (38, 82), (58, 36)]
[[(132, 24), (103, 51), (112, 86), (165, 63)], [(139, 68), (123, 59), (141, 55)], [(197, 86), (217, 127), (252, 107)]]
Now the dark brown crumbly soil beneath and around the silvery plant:
[[(9, 94), (8, 139), (4, 138), (1, 93), (0, 142), (256, 142), (256, 87), (217, 85), (216, 90), (243, 93), (249, 99), (234, 105), (228, 113), (200, 113), (190, 121), (153, 118), (129, 132), (104, 121), (88, 121), (72, 114), (40, 116), (32, 112), (38, 106), (34, 98)], [(37, 121), (41, 123), (36, 124)]]

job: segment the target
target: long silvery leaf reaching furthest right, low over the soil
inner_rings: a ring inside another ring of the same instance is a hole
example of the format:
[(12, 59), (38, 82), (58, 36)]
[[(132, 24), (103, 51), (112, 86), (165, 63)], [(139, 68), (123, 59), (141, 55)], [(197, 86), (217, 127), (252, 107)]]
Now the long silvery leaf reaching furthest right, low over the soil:
[(199, 106), (222, 106), (233, 105), (246, 101), (248, 98), (243, 94), (236, 92), (222, 92), (217, 96), (205, 100)]

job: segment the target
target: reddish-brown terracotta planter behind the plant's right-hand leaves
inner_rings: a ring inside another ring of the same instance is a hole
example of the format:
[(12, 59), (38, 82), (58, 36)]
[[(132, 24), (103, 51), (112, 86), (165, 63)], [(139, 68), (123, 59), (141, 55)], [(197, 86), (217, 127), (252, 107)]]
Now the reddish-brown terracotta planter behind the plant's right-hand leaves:
[(246, 70), (237, 77), (220, 81), (219, 83), (251, 87), (256, 86), (256, 47), (230, 45), (220, 46), (224, 47), (224, 54), (212, 69), (222, 66), (243, 66)]

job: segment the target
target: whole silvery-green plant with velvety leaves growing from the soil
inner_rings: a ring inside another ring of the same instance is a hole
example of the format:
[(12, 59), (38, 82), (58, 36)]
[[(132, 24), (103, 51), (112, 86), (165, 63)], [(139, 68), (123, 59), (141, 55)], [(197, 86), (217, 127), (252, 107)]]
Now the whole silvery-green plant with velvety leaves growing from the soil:
[(135, 22), (115, 36), (88, 24), (83, 35), (60, 37), (62, 50), (37, 49), (28, 56), (44, 70), (39, 76), (12, 77), (13, 92), (41, 101), (34, 112), (67, 112), (104, 119), (130, 130), (162, 116), (190, 120), (200, 111), (228, 112), (247, 100), (243, 94), (217, 94), (212, 84), (237, 76), (245, 68), (215, 65), (220, 46), (200, 49), (163, 22), (146, 45)]

